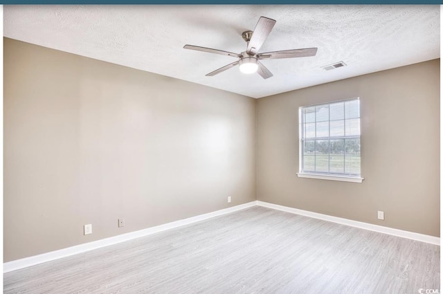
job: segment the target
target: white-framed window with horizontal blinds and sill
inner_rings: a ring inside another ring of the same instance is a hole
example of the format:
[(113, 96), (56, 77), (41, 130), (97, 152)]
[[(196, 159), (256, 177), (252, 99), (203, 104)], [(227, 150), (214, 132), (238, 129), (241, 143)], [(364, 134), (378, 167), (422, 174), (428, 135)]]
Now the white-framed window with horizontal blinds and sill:
[(359, 182), (360, 100), (300, 107), (298, 176)]

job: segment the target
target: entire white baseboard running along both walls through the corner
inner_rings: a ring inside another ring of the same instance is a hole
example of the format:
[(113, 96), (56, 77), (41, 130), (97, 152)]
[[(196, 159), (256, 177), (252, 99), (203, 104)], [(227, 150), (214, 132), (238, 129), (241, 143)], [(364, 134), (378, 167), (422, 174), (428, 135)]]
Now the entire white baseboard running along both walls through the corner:
[(3, 273), (8, 273), (12, 270), (19, 270), (20, 268), (26, 268), (28, 266), (34, 266), (36, 264), (43, 264), (44, 262), (60, 259), (63, 257), (68, 257), (71, 255), (75, 255), (82, 252), (87, 252), (89, 250), (102, 248), (109, 245), (118, 244), (124, 241), (129, 241), (132, 239), (136, 239), (138, 237), (145, 237), (147, 235), (155, 234), (156, 232), (163, 232), (165, 230), (170, 230), (172, 228), (178, 228), (180, 226), (185, 226), (190, 223), (196, 223), (197, 221), (204, 221), (206, 219), (210, 219), (212, 217), (218, 217), (223, 214), (228, 214), (230, 212), (235, 212), (237, 210), (243, 210), (245, 208), (251, 208), (255, 205), (263, 206), (265, 208), (272, 208), (275, 210), (281, 210), (284, 212), (290, 212), (293, 214), (300, 214), (305, 217), (312, 217), (314, 219), (322, 219), (323, 221), (332, 221), (334, 223), (341, 223), (342, 225), (352, 226), (355, 228), (361, 228), (365, 230), (371, 230), (374, 232), (381, 232), (383, 234), (393, 235), (397, 237), (403, 237), (407, 239), (413, 239), (416, 241), (422, 241), (430, 244), (435, 244), (440, 246), (440, 238), (422, 235), (416, 232), (408, 232), (404, 230), (398, 230), (394, 228), (388, 228), (383, 226), (373, 225), (371, 223), (363, 223), (361, 221), (352, 221), (351, 219), (342, 219), (341, 217), (332, 217), (327, 214), (320, 214), (317, 212), (309, 212), (307, 210), (299, 210), (297, 208), (289, 208), (287, 206), (277, 205), (273, 203), (267, 203), (264, 201), (251, 201), (248, 203), (244, 203), (241, 205), (236, 205), (231, 208), (225, 208), (222, 210), (217, 210), (215, 212), (209, 212), (206, 214), (197, 215), (195, 217), (190, 217), (188, 219), (181, 219), (179, 221), (172, 221), (171, 223), (165, 223), (160, 226), (155, 226), (152, 228), (147, 228), (144, 230), (138, 230), (136, 232), (129, 232), (127, 234), (118, 235), (115, 237), (109, 237), (106, 239), (101, 239), (97, 241), (92, 241), (85, 244), (80, 244), (77, 246), (72, 246), (69, 248), (64, 248), (60, 250), (55, 250), (51, 252), (47, 252), (41, 255), (35, 255), (31, 257), (26, 257), (23, 259), (17, 259), (9, 262), (5, 262), (3, 264)]

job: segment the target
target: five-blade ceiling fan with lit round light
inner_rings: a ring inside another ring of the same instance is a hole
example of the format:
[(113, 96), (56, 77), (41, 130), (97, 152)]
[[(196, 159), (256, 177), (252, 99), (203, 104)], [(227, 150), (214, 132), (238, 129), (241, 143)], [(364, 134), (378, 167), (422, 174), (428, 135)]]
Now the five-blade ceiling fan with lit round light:
[(246, 30), (242, 33), (244, 41), (247, 43), (246, 51), (242, 53), (232, 53), (224, 50), (217, 50), (213, 48), (206, 48), (193, 45), (185, 45), (183, 48), (190, 50), (203, 51), (208, 53), (215, 53), (221, 55), (228, 55), (232, 57), (237, 57), (238, 60), (226, 66), (223, 66), (215, 71), (208, 73), (206, 76), (217, 75), (227, 69), (239, 65), (240, 71), (242, 73), (255, 73), (257, 72), (264, 79), (272, 77), (271, 71), (266, 68), (260, 60), (262, 59), (278, 59), (278, 58), (293, 58), (293, 57), (308, 57), (314, 56), (317, 53), (317, 48), (302, 48), (302, 49), (292, 49), (292, 50), (281, 50), (266, 53), (258, 53), (260, 47), (268, 37), (273, 26), (275, 25), (275, 20), (269, 19), (267, 17), (260, 17), (255, 26), (254, 31)]

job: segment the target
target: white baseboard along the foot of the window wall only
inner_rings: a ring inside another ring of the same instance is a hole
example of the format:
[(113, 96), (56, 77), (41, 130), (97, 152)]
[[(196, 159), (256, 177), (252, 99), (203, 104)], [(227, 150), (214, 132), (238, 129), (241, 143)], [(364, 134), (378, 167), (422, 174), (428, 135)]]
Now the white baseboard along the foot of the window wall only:
[(320, 214), (317, 212), (310, 212), (307, 210), (299, 210), (297, 208), (289, 208), (287, 206), (277, 205), (273, 203), (268, 203), (264, 201), (257, 201), (257, 205), (263, 206), (265, 208), (272, 208), (275, 210), (282, 210), (284, 212), (290, 212), (293, 214), (300, 214), (305, 217), (312, 217), (314, 219), (322, 219), (323, 221), (332, 221), (333, 223), (340, 223), (346, 226), (352, 226), (355, 228), (361, 228), (364, 230), (371, 230), (374, 232), (381, 232), (383, 234), (388, 234), (392, 236), (402, 237), (406, 239), (412, 239), (415, 241), (421, 241), (429, 244), (435, 244), (440, 246), (440, 238), (430, 235), (423, 235), (417, 232), (408, 232), (405, 230), (398, 230), (395, 228), (388, 228), (378, 225), (373, 225), (372, 223), (363, 223), (361, 221), (353, 221), (352, 219), (342, 219), (341, 217), (332, 217), (327, 214)]

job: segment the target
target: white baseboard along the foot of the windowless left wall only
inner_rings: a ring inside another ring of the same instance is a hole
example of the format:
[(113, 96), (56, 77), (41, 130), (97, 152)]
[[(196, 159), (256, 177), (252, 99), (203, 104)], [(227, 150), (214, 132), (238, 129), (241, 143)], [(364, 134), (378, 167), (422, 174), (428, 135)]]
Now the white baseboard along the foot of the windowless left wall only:
[(22, 259), (17, 259), (13, 261), (8, 261), (3, 263), (3, 273), (8, 273), (12, 270), (19, 270), (20, 268), (26, 268), (28, 266), (34, 266), (36, 264), (43, 264), (44, 262), (60, 259), (63, 257), (68, 257), (82, 252), (87, 252), (89, 250), (102, 248), (109, 245), (118, 244), (124, 241), (129, 241), (136, 239), (138, 237), (145, 237), (147, 235), (155, 234), (156, 232), (163, 232), (165, 230), (170, 230), (172, 228), (178, 228), (180, 226), (185, 226), (190, 223), (196, 223), (197, 221), (204, 221), (205, 219), (210, 219), (212, 217), (218, 217), (222, 214), (228, 214), (230, 212), (235, 212), (237, 210), (242, 210), (245, 208), (250, 208), (257, 205), (256, 201), (251, 201), (249, 203), (244, 203), (241, 205), (236, 205), (231, 208), (225, 208), (222, 210), (217, 210), (215, 212), (209, 212), (206, 214), (200, 214), (195, 217), (190, 217), (188, 219), (181, 219), (179, 221), (172, 221), (171, 223), (165, 223), (160, 226), (155, 226), (152, 228), (147, 228), (143, 230), (138, 230), (135, 232), (128, 232), (126, 234), (118, 235), (115, 237), (109, 237), (106, 239), (100, 239), (97, 241), (92, 241), (85, 244), (80, 244), (77, 246), (71, 246), (68, 248), (55, 250), (41, 255), (34, 255), (31, 257), (25, 257)]

